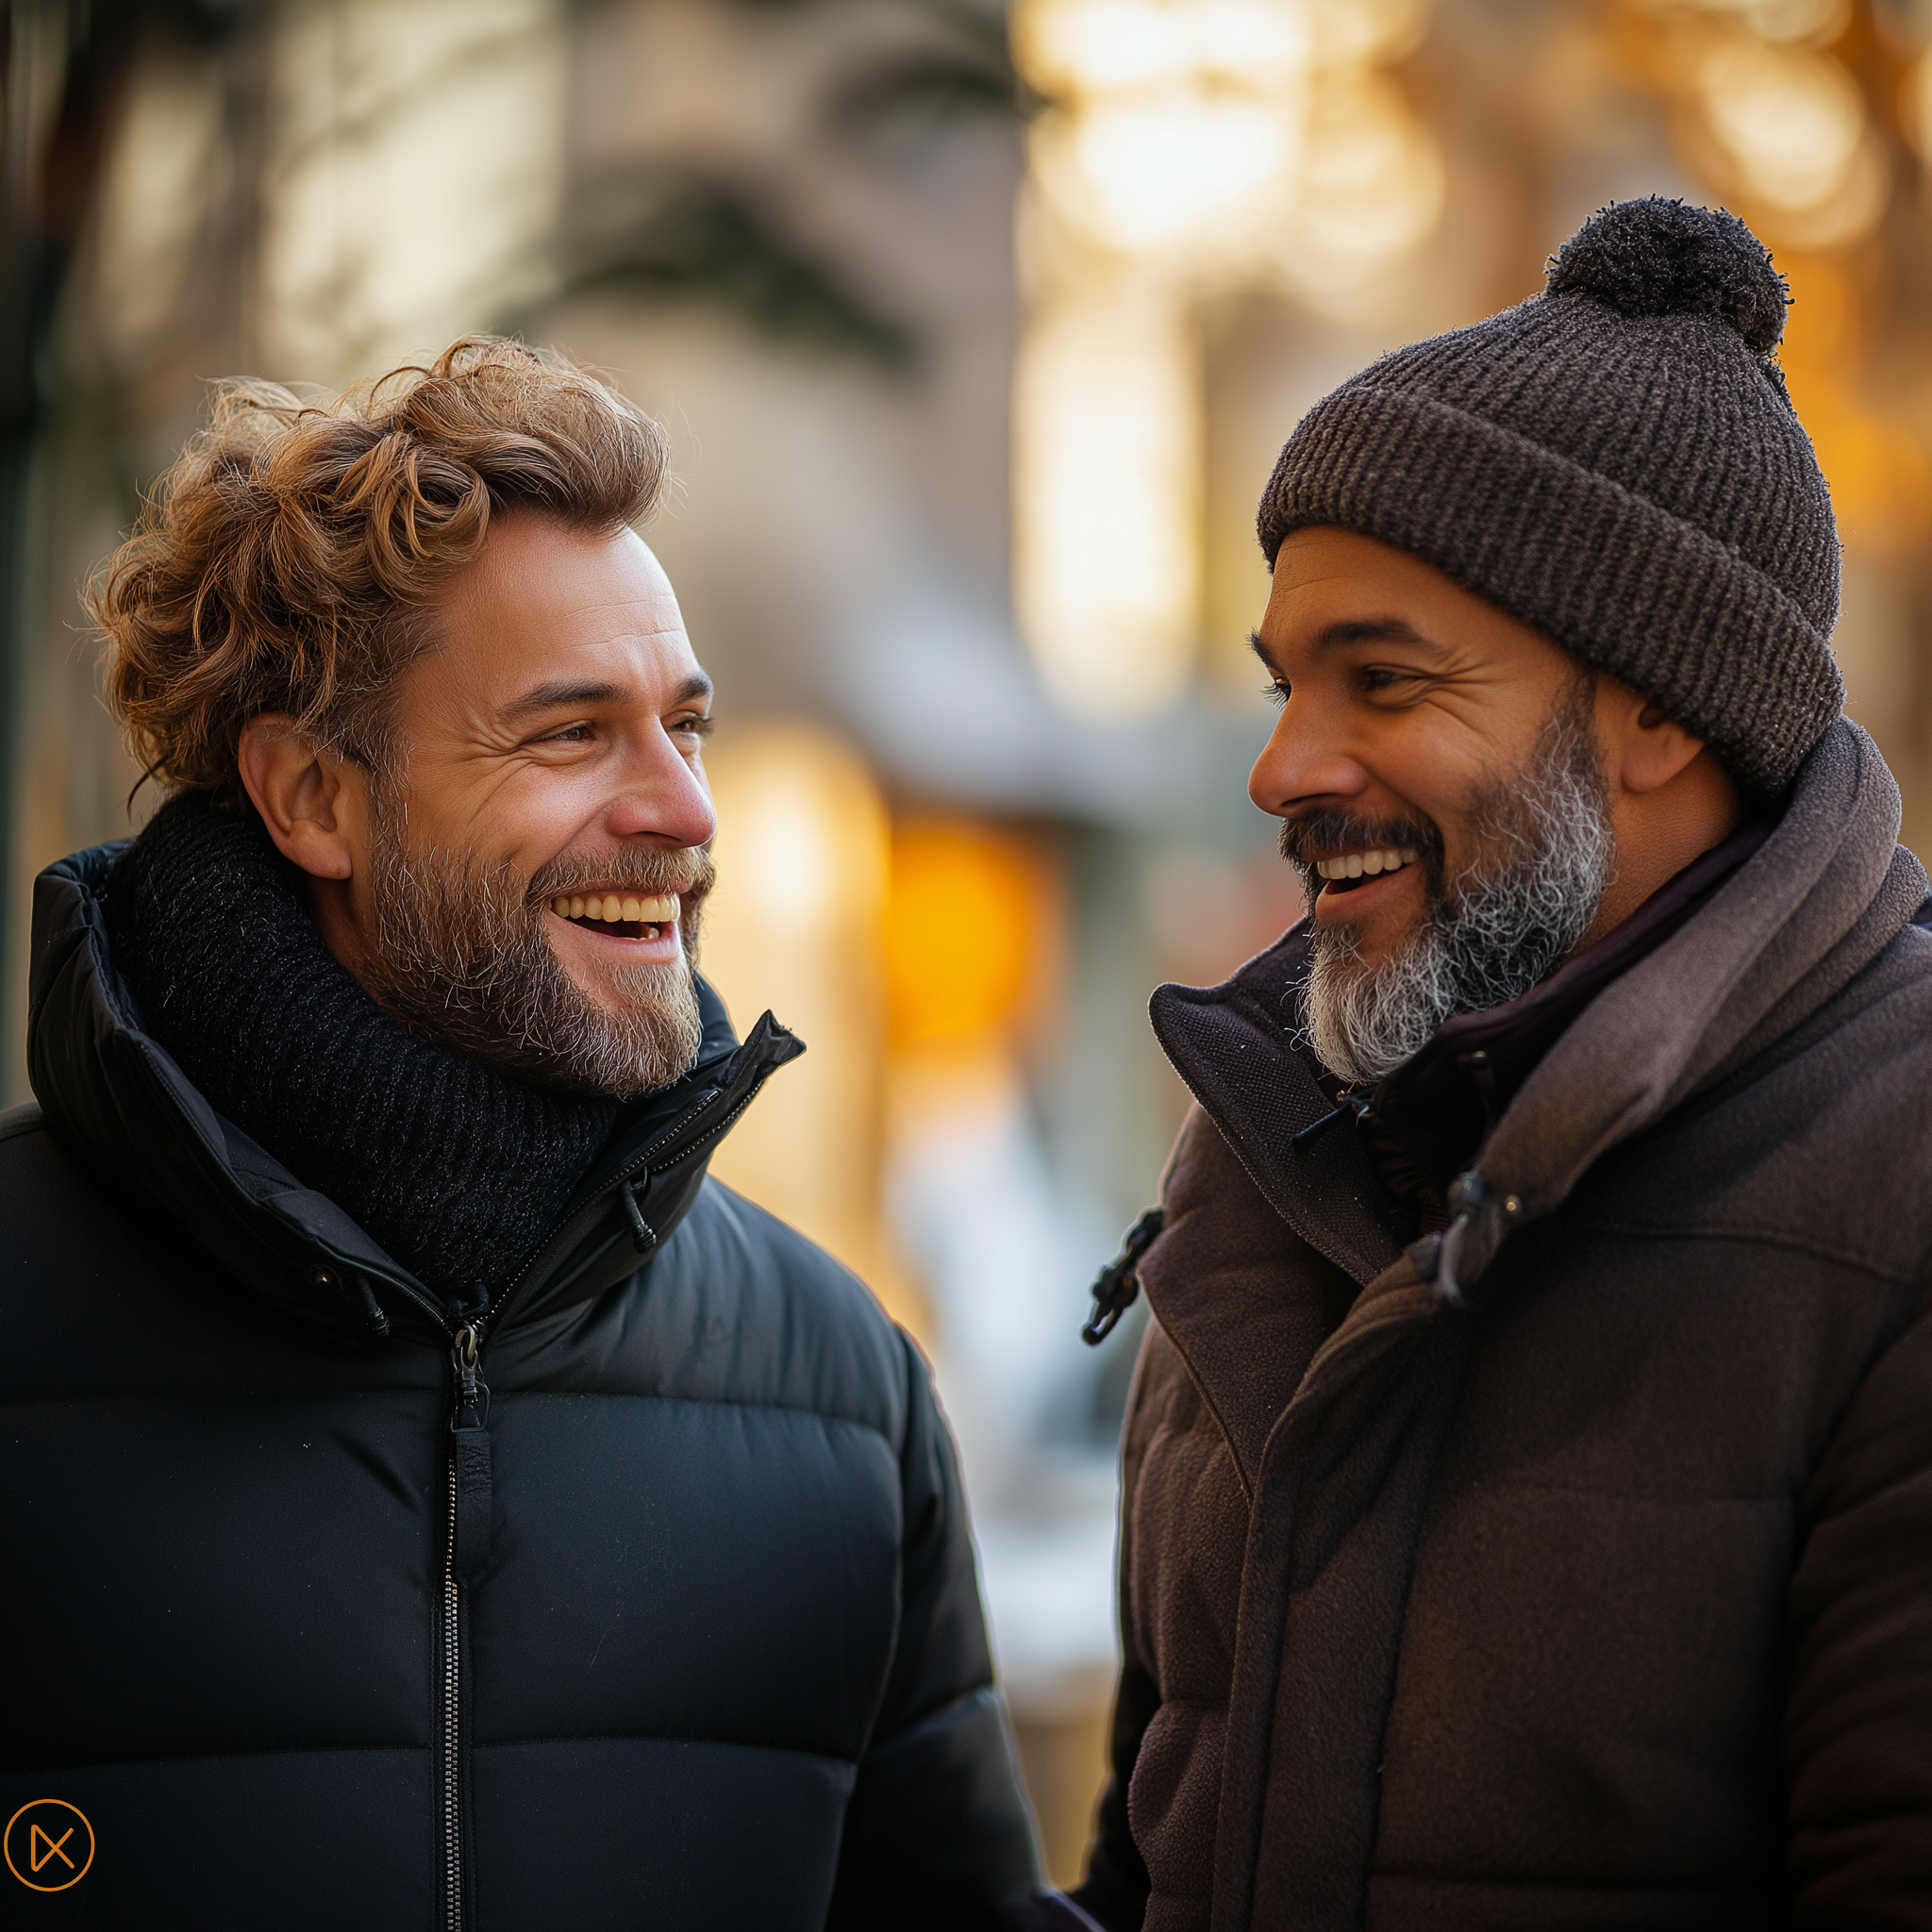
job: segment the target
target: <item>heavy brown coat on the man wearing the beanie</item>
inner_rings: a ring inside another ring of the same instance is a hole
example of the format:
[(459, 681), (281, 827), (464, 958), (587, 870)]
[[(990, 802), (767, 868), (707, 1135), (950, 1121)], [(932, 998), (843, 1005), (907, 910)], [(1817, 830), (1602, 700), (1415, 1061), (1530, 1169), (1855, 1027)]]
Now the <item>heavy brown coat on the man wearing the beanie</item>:
[[(1932, 933), (1837, 724), (1416, 1242), (1302, 935), (1155, 1028), (1109, 1926), (1932, 1926)], [(1412, 1244), (1403, 1248), (1403, 1242)]]

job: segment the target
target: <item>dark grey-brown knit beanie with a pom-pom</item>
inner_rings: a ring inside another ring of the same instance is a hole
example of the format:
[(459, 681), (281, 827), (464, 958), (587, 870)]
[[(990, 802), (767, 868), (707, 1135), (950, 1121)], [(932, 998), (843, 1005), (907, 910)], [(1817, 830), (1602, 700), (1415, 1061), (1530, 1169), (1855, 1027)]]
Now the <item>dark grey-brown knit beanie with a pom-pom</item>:
[(1772, 361), (1787, 299), (1735, 214), (1604, 209), (1540, 296), (1302, 417), (1262, 497), (1269, 568), (1314, 524), (1410, 551), (1777, 796), (1845, 696), (1832, 497)]

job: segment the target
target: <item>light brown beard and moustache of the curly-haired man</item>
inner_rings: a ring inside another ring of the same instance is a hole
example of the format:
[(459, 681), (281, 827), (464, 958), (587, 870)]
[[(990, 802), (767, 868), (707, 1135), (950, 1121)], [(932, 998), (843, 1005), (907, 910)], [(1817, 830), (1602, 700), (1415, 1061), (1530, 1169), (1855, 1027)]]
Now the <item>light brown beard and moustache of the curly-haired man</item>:
[[(639, 848), (595, 877), (570, 860), (535, 877), (479, 871), (460, 854), (412, 854), (390, 806), (377, 800), (369, 860), (369, 991), (425, 1039), (518, 1080), (611, 1099), (690, 1072), (703, 1036), (694, 968), (697, 910), (711, 887), (705, 852)], [(580, 991), (543, 929), (551, 898), (595, 883), (690, 895), (678, 925), (684, 956), (620, 966), (609, 1009)]]

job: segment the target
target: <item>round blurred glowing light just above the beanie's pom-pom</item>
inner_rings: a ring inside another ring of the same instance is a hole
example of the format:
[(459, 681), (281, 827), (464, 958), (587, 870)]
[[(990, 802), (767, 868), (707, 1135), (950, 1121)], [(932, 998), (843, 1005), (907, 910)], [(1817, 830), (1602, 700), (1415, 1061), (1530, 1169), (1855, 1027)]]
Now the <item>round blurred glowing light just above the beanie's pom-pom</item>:
[(1704, 58), (1698, 93), (1745, 185), (1774, 209), (1814, 209), (1849, 184), (1864, 102), (1835, 60), (1725, 41)]

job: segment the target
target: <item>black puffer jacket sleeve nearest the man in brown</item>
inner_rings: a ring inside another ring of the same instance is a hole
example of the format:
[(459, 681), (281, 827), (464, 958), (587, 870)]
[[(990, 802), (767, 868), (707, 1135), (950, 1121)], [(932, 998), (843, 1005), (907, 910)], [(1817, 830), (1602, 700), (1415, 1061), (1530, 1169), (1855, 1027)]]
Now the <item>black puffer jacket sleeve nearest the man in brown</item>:
[(846, 1806), (827, 1932), (964, 1932), (1041, 1886), (952, 1437), (906, 1350), (898, 1648)]

